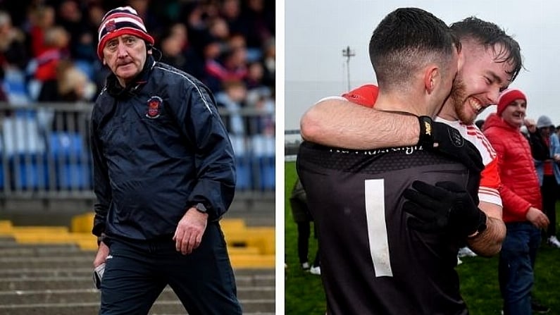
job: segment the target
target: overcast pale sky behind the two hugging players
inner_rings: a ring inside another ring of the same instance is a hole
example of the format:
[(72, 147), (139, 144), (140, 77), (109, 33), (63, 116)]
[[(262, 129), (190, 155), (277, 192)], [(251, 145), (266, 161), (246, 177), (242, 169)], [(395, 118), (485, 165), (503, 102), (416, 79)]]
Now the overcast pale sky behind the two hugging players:
[[(527, 70), (511, 87), (528, 95), (528, 116), (546, 114), (560, 124), (560, 1), (556, 0), (288, 0), (285, 2), (285, 129), (316, 101), (375, 82), (368, 56), (371, 33), (395, 8), (415, 6), (447, 24), (477, 16), (503, 27), (521, 45)], [(280, 107), (279, 107), (280, 109)], [(496, 111), (490, 107), (479, 117)]]

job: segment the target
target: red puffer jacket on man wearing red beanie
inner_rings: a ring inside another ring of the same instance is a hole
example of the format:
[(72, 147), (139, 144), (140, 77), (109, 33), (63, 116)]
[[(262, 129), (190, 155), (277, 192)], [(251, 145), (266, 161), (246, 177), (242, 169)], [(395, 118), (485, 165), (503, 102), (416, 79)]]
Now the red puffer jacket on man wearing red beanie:
[(530, 206), (542, 209), (540, 185), (528, 140), (495, 113), (484, 123), (484, 134), (498, 155), (499, 191), (504, 222), (527, 221)]

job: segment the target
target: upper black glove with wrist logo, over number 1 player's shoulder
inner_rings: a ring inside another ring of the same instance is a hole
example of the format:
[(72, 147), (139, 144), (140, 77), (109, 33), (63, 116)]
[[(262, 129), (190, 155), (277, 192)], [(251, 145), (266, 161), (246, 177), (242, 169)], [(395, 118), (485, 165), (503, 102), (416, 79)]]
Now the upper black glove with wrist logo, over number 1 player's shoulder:
[(420, 116), (418, 121), (420, 122), (418, 145), (425, 150), (439, 152), (456, 159), (475, 173), (483, 170), (484, 164), (480, 152), (474, 144), (461, 136), (459, 130), (445, 123), (432, 121), (428, 116)]

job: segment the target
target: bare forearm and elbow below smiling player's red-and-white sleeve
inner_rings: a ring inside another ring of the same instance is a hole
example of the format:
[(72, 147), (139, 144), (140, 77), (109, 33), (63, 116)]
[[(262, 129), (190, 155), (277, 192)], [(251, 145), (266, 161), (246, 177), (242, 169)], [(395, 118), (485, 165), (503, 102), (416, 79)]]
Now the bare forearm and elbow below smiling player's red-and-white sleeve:
[(480, 202), (478, 208), (486, 214), (486, 229), (478, 235), (467, 237), (468, 246), (480, 256), (491, 257), (499, 253), (506, 237), (502, 206), (490, 202)]

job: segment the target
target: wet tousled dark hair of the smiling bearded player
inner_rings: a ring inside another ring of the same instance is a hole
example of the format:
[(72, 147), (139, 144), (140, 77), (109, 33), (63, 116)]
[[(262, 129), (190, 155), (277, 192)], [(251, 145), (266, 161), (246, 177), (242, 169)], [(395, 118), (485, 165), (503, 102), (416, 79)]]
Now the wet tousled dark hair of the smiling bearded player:
[(497, 62), (511, 63), (514, 68), (507, 74), (511, 75), (510, 82), (514, 82), (523, 68), (521, 47), (513, 37), (506, 34), (502, 27), (474, 16), (453, 23), (450, 27), (459, 40), (474, 39), (486, 49), (494, 49)]

